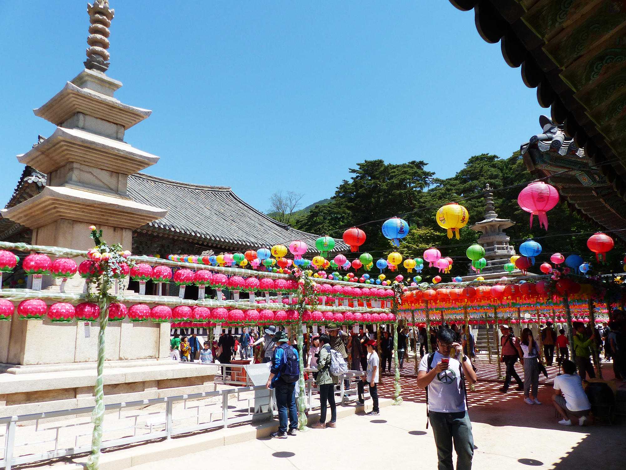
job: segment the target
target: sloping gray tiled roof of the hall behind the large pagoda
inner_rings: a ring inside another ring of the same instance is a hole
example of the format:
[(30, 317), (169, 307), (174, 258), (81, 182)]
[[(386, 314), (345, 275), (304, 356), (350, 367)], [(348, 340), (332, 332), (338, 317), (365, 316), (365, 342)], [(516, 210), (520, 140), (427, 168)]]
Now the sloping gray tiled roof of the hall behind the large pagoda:
[[(186, 234), (233, 248), (287, 245), (302, 240), (309, 246), (307, 255), (317, 253), (318, 235), (275, 221), (242, 201), (227, 186), (188, 184), (136, 173), (128, 177), (128, 194), (136, 202), (168, 210), (163, 219), (142, 228)], [(341, 239), (336, 239), (334, 252), (348, 250)]]

